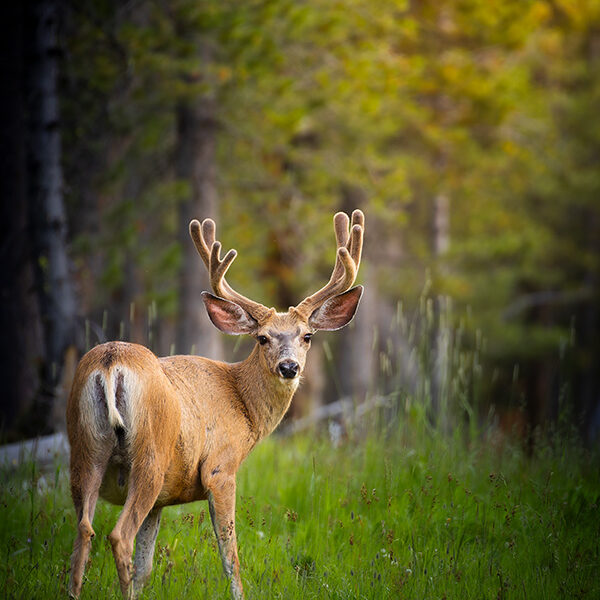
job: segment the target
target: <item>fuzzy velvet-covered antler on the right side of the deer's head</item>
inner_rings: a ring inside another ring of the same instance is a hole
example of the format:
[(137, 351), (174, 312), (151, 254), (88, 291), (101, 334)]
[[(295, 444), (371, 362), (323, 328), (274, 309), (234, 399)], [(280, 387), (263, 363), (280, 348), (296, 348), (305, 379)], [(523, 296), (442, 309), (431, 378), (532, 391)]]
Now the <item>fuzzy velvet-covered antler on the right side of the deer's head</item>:
[(336, 213), (333, 217), (333, 230), (337, 253), (333, 272), (325, 286), (296, 306), (297, 311), (309, 315), (327, 299), (345, 292), (352, 286), (360, 265), (364, 223), (365, 216), (362, 211), (355, 210), (352, 213), (352, 226), (348, 232), (350, 224), (348, 215), (343, 212)]

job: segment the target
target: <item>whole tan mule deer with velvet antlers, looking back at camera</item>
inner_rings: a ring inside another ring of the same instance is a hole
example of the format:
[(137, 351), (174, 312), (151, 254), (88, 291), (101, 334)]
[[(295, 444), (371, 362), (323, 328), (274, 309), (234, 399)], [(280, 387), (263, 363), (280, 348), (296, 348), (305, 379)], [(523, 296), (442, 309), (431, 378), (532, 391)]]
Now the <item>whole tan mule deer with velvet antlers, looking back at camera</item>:
[[(241, 462), (287, 411), (313, 333), (346, 325), (362, 287), (356, 279), (364, 216), (334, 217), (337, 241), (329, 282), (287, 312), (254, 302), (225, 280), (236, 257), (221, 258), (215, 224), (190, 223), (215, 295), (202, 293), (214, 325), (257, 343), (242, 362), (200, 356), (157, 358), (137, 344), (108, 342), (79, 363), (67, 405), (71, 493), (78, 533), (70, 593), (77, 598), (94, 530), (98, 496), (123, 505), (108, 538), (123, 596), (135, 597), (152, 570), (164, 506), (208, 500), (223, 570), (242, 598), (235, 535), (235, 476)], [(135, 559), (132, 561), (136, 540)]]

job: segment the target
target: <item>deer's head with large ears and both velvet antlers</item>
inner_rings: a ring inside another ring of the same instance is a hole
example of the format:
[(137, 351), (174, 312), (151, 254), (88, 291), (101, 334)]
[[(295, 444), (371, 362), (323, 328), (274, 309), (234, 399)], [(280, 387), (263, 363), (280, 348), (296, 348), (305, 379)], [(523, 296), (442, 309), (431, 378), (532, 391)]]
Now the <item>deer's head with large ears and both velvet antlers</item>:
[(261, 363), (274, 377), (297, 385), (311, 338), (318, 330), (333, 331), (347, 325), (360, 301), (362, 286), (354, 284), (362, 252), (364, 215), (343, 213), (333, 218), (337, 244), (336, 261), (327, 284), (287, 312), (277, 312), (236, 292), (225, 274), (237, 256), (229, 250), (221, 258), (212, 219), (190, 223), (190, 235), (206, 265), (215, 295), (202, 293), (213, 324), (230, 335), (248, 334), (257, 341)]

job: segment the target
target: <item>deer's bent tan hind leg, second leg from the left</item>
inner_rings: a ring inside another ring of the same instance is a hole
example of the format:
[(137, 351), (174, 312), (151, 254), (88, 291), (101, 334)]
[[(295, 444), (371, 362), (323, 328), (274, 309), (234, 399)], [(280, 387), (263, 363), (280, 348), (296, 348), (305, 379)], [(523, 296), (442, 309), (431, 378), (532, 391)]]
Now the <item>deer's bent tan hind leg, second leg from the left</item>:
[[(152, 452), (151, 449), (148, 452)], [(112, 545), (119, 583), (124, 598), (134, 598), (133, 586), (133, 542), (142, 522), (152, 510), (163, 485), (164, 471), (154, 469), (154, 461), (143, 461), (144, 465), (133, 465), (129, 475), (129, 494), (123, 511), (108, 539)], [(148, 468), (148, 465), (152, 465)], [(157, 524), (158, 529), (158, 524)]]

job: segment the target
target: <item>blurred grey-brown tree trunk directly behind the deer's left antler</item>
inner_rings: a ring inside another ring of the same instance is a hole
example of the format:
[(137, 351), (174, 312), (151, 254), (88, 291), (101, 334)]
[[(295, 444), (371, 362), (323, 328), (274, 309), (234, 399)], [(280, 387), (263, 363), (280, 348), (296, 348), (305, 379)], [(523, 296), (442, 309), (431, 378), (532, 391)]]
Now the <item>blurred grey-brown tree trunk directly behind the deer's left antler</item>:
[(188, 233), (191, 219), (217, 216), (215, 106), (209, 98), (197, 98), (182, 100), (176, 110), (176, 173), (189, 183), (189, 193), (179, 206), (182, 263), (176, 352), (220, 358), (221, 339), (200, 296), (210, 290), (208, 274)]

